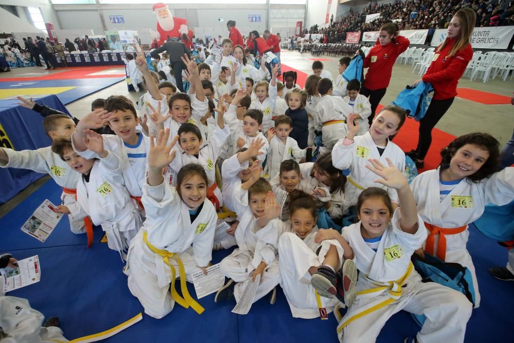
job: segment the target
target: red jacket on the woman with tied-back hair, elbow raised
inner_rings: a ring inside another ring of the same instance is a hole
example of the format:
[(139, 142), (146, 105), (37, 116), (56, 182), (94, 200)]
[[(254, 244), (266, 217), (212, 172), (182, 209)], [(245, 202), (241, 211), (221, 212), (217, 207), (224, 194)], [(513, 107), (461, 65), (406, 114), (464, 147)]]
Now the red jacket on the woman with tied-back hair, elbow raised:
[(391, 80), (396, 58), (409, 47), (409, 40), (401, 35), (394, 38), (395, 43), (391, 42), (381, 46), (380, 43), (371, 48), (368, 56), (364, 59), (364, 68), (368, 68), (368, 73), (364, 78), (364, 87), (370, 91), (387, 88)]

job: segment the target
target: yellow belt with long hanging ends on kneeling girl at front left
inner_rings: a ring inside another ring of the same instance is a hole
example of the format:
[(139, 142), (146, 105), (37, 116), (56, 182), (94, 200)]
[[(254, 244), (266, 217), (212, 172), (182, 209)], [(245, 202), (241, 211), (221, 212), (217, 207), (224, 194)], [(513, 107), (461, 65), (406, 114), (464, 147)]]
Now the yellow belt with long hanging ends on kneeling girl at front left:
[[(195, 310), (196, 313), (198, 313), (198, 314), (203, 313), (205, 311), (204, 308), (199, 303), (197, 303), (188, 292), (188, 287), (186, 285), (186, 269), (184, 268), (184, 265), (183, 265), (182, 261), (180, 260), (180, 258), (178, 257), (178, 255), (175, 254), (175, 252), (169, 252), (167, 250), (157, 249), (155, 246), (150, 244), (148, 239), (146, 239), (146, 231), (143, 231), (143, 240), (144, 240), (144, 243), (146, 243), (146, 245), (148, 245), (150, 250), (155, 252), (155, 254), (162, 256), (164, 263), (166, 263), (170, 267), (170, 269), (171, 269), (171, 297), (173, 298), (173, 300), (178, 302), (183, 308), (189, 309), (189, 306), (191, 306), (193, 308), (193, 310)], [(175, 267), (172, 266), (170, 263), (169, 259), (171, 259), (171, 258), (175, 258), (175, 260), (178, 263), (178, 271), (180, 273), (179, 274), (180, 275), (180, 290), (182, 291), (182, 297), (178, 294), (177, 290), (175, 290), (176, 273), (175, 273)]]

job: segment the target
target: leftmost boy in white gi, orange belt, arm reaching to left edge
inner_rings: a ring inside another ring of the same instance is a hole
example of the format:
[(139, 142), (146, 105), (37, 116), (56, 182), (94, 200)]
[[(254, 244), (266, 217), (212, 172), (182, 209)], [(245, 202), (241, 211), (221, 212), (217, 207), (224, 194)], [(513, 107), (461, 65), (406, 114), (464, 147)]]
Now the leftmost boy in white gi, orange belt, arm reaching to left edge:
[[(46, 134), (53, 141), (58, 138), (71, 137), (75, 131), (75, 122), (63, 114), (52, 114), (43, 120), (43, 128)], [(78, 206), (76, 202), (76, 187), (80, 174), (52, 152), (52, 147), (45, 147), (36, 150), (15, 151), (8, 148), (0, 148), (0, 167), (2, 168), (23, 168), (38, 173), (46, 173), (63, 188), (61, 205), (68, 207)], [(71, 232), (84, 233), (86, 227), (82, 219), (75, 220), (68, 215)], [(91, 230), (93, 227), (91, 226)], [(91, 234), (93, 231), (91, 231)]]

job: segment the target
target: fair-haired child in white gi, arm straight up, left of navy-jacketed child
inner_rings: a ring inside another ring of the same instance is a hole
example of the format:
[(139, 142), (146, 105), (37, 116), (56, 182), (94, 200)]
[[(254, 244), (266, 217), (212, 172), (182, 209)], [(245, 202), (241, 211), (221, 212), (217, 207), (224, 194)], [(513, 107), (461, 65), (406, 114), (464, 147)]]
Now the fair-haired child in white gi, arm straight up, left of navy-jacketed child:
[(259, 81), (255, 84), (255, 95), (257, 99), (253, 100), (250, 109), (260, 110), (263, 113), (262, 131), (267, 132), (273, 127), (273, 111), (277, 100), (277, 73), (279, 65), (271, 68), (271, 81)]

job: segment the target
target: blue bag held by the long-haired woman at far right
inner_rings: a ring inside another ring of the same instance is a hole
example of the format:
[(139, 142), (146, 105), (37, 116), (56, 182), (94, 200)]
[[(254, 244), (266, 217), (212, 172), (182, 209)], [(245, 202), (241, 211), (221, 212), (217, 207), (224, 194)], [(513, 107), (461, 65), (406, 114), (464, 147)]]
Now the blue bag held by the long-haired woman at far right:
[(392, 104), (405, 110), (409, 118), (420, 121), (427, 113), (433, 91), (432, 84), (421, 81), (414, 88), (407, 86), (403, 89)]

